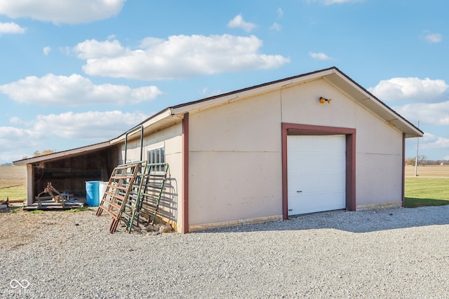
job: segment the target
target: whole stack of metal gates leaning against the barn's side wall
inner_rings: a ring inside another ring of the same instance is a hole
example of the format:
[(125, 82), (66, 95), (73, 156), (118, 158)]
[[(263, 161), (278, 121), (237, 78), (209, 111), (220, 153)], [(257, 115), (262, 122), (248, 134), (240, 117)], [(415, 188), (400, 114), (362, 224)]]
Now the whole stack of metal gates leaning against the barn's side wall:
[(167, 174), (167, 163), (140, 161), (114, 168), (97, 210), (97, 216), (103, 211), (112, 216), (109, 232), (114, 233), (120, 221), (127, 232), (154, 225)]

